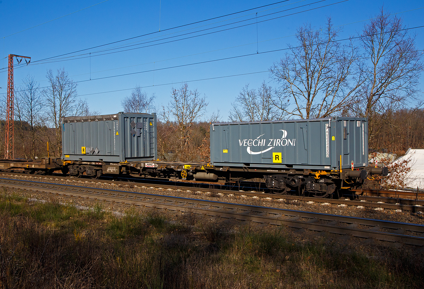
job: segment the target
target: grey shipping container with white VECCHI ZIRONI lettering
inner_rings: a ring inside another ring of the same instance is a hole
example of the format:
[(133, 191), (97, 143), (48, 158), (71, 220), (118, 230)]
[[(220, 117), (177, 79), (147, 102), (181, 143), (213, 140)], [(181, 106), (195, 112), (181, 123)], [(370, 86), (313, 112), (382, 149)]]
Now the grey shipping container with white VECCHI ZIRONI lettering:
[(210, 126), (215, 166), (338, 170), (368, 165), (368, 120), (329, 117)]

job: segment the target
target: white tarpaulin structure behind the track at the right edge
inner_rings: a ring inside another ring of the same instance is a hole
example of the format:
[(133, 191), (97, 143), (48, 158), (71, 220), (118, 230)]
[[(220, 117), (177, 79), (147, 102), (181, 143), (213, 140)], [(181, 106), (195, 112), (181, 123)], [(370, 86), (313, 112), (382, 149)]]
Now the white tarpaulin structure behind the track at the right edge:
[(408, 187), (424, 189), (424, 149), (409, 148), (405, 155), (396, 159), (393, 164), (409, 159), (411, 161), (408, 167), (411, 167), (412, 170), (406, 175)]

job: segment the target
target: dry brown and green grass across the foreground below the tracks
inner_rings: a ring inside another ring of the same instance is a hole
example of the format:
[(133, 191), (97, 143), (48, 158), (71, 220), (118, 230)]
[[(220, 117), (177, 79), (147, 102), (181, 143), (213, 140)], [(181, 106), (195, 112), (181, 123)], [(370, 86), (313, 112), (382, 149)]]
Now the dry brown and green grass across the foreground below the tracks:
[[(299, 245), (283, 228), (224, 230), (218, 220), (122, 218), (58, 203), (0, 200), (0, 288), (419, 288), (422, 264)], [(185, 225), (183, 222), (189, 222)]]

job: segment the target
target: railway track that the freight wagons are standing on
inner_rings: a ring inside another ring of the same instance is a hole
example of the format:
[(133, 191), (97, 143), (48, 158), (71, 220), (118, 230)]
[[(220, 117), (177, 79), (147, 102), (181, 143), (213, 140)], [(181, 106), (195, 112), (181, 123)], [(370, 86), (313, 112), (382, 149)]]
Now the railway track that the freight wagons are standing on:
[[(232, 194), (238, 196), (247, 196), (247, 197), (262, 197), (262, 198), (271, 198), (271, 200), (275, 199), (284, 199), (289, 201), (301, 201), (301, 202), (314, 202), (314, 203), (330, 203), (335, 205), (346, 205), (346, 206), (360, 206), (363, 208), (370, 209), (391, 209), (391, 210), (401, 210), (401, 211), (409, 211), (412, 213), (424, 212), (424, 200), (412, 200), (412, 199), (401, 199), (395, 197), (376, 197), (376, 196), (367, 196), (367, 195), (356, 195), (352, 194), (349, 198), (345, 199), (321, 199), (315, 197), (303, 197), (303, 196), (293, 196), (293, 195), (274, 195), (274, 194), (266, 194), (264, 192), (246, 192), (246, 191), (234, 191), (229, 189), (217, 189), (211, 187), (193, 187), (192, 183), (182, 183), (178, 181), (161, 181), (161, 183), (153, 183), (154, 180), (149, 182), (128, 182), (128, 181), (110, 181), (110, 180), (92, 180), (85, 178), (72, 178), (72, 177), (64, 177), (64, 176), (50, 176), (50, 175), (31, 175), (22, 173), (0, 173), (3, 175), (16, 175), (23, 177), (31, 177), (31, 178), (41, 178), (41, 179), (52, 179), (52, 180), (72, 180), (72, 181), (82, 181), (86, 183), (98, 183), (98, 184), (118, 184), (118, 185), (137, 185), (137, 186), (148, 186), (155, 188), (164, 188), (164, 189), (181, 189), (181, 190), (196, 190), (200, 192), (215, 192), (222, 194)], [(208, 184), (206, 184), (208, 185)], [(225, 186), (224, 186), (225, 187)]]

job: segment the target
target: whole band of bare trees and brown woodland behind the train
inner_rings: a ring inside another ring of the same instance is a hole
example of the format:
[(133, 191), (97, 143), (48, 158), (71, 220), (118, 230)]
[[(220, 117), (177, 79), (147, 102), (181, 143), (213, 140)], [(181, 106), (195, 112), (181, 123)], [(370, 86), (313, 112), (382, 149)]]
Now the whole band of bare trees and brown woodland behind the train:
[[(384, 8), (350, 39), (340, 39), (341, 29), (331, 18), (318, 28), (310, 23), (298, 27), (297, 43), (288, 44), (269, 68), (277, 86), (246, 84), (228, 121), (365, 117), (370, 152), (402, 155), (409, 147), (424, 147), (424, 101), (418, 88), (424, 64), (416, 36)], [(16, 89), (15, 158), (46, 157), (47, 142), (50, 156), (61, 156), (60, 118), (100, 114), (78, 97), (77, 84), (64, 68), (48, 70), (46, 78), (45, 89), (30, 75)], [(183, 83), (172, 87), (166, 104), (155, 106), (155, 99), (137, 87), (121, 105), (124, 112), (156, 112), (159, 159), (209, 161), (209, 124), (223, 118), (219, 111), (208, 113), (206, 95)], [(5, 119), (4, 107), (0, 119)], [(0, 121), (1, 155), (4, 129)]]

